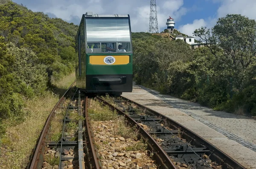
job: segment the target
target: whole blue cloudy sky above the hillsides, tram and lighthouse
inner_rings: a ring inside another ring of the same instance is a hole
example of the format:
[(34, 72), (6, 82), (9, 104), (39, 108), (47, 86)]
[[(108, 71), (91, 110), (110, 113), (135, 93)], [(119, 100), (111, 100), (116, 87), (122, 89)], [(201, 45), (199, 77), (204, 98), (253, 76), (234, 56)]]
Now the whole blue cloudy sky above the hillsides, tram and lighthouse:
[[(32, 11), (42, 11), (79, 24), (82, 14), (130, 14), (133, 32), (148, 31), (150, 0), (13, 0)], [(242, 14), (256, 19), (256, 0), (156, 0), (159, 31), (166, 28), (166, 20), (175, 19), (175, 28), (192, 36), (201, 26), (211, 28), (219, 17)]]

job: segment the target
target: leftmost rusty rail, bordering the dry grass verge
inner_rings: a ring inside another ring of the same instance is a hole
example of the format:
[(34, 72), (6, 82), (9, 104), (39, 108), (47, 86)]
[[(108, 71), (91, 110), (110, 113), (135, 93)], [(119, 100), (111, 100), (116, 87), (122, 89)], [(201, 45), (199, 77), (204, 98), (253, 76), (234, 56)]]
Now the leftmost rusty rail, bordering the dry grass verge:
[(28, 167), (30, 169), (41, 169), (42, 168), (42, 164), (44, 162), (44, 152), (46, 150), (44, 140), (46, 140), (48, 138), (48, 130), (50, 127), (50, 125), (49, 125), (50, 121), (52, 120), (52, 118), (54, 117), (54, 115), (56, 113), (55, 110), (60, 106), (61, 102), (64, 101), (67, 92), (74, 85), (74, 83), (75, 82), (73, 82), (73, 84), (70, 85), (70, 87), (67, 89), (67, 91), (63, 94), (63, 96), (59, 99), (57, 104), (54, 106), (54, 108), (52, 109), (52, 112), (49, 114), (47, 121), (44, 124), (44, 129), (42, 130), (40, 138), (38, 140), (36, 149), (32, 155), (32, 161), (30, 160), (31, 163), (29, 163), (29, 165), (28, 165)]

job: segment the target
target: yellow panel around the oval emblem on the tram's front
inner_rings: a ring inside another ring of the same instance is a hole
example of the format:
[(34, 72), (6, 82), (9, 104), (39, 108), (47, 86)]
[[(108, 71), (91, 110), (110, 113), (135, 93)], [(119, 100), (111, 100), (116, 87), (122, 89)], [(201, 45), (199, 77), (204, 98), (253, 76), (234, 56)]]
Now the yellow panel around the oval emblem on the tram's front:
[(122, 55), (122, 56), (112, 56), (114, 58), (114, 63), (107, 64), (104, 62), (104, 59), (107, 56), (90, 56), (89, 63), (92, 65), (126, 65), (129, 63), (129, 56)]

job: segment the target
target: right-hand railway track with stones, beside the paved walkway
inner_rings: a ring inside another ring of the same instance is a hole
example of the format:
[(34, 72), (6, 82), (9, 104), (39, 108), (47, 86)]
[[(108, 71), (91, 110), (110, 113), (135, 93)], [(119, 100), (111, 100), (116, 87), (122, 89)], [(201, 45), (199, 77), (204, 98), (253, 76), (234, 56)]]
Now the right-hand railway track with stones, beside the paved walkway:
[(136, 125), (161, 168), (245, 169), (230, 156), (172, 119), (125, 97), (96, 97)]

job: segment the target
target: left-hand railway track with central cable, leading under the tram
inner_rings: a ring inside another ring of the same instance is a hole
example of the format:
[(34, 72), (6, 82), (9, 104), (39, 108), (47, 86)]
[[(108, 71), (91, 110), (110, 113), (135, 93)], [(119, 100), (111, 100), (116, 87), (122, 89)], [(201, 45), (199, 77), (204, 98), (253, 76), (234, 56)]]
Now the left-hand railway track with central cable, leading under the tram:
[[(93, 144), (93, 132), (87, 115), (88, 98), (80, 93), (80, 90), (73, 92), (74, 89), (71, 86), (59, 99), (47, 118), (27, 168), (102, 168), (97, 149)], [(69, 96), (72, 96), (70, 102), (64, 106), (64, 102)], [(56, 118), (57, 112), (60, 110), (65, 112), (63, 119)], [(60, 121), (62, 124), (61, 137), (58, 141), (50, 139), (53, 121)]]

